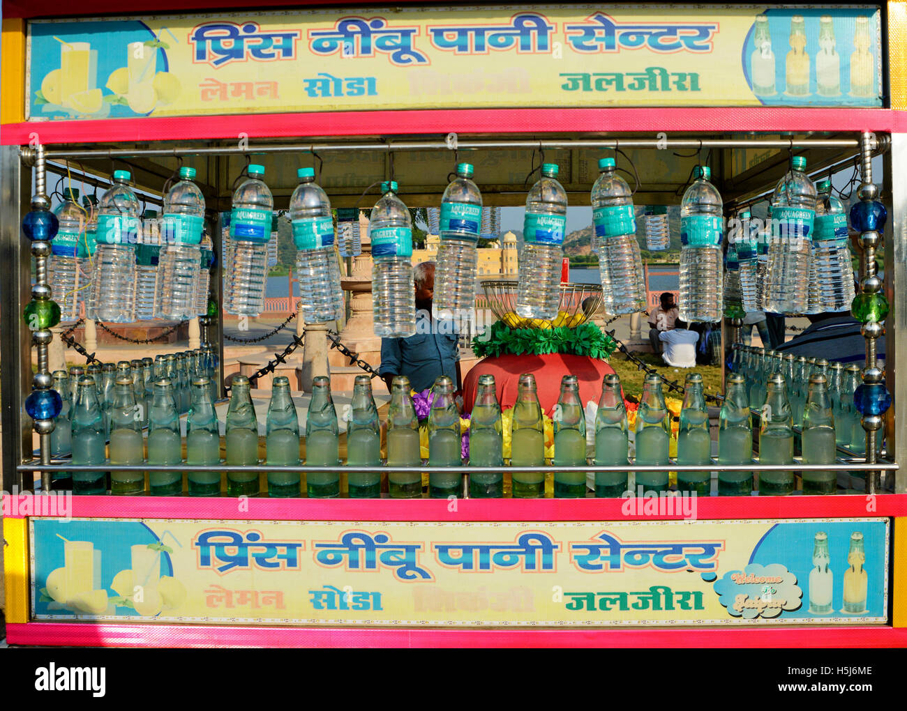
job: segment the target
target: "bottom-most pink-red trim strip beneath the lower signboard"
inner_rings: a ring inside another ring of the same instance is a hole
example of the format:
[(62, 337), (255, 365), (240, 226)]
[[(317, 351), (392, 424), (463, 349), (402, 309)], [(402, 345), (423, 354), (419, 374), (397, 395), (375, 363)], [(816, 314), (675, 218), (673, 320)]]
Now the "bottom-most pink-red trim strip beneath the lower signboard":
[(653, 629), (292, 628), (207, 625), (6, 623), (10, 644), (67, 647), (380, 648), (902, 648), (907, 629), (769, 627)]

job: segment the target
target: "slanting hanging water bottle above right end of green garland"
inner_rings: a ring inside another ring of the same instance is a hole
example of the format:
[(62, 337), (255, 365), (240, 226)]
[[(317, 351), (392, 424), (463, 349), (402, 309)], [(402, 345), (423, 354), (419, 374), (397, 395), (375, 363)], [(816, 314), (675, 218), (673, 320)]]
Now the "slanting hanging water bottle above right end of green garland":
[(644, 311), (646, 286), (632, 193), (627, 181), (615, 172), (614, 159), (600, 159), (599, 170), (591, 200), (604, 309), (614, 316)]

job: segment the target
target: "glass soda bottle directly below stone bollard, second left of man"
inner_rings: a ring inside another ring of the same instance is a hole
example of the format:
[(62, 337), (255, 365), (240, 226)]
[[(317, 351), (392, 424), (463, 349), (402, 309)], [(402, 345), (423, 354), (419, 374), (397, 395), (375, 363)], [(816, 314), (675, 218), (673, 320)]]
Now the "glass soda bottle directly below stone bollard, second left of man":
[(330, 498), (340, 495), (340, 454), (337, 413), (331, 399), (331, 384), (327, 376), (312, 379), (312, 399), (306, 416), (306, 466), (333, 466), (329, 472), (307, 472), (309, 498)]

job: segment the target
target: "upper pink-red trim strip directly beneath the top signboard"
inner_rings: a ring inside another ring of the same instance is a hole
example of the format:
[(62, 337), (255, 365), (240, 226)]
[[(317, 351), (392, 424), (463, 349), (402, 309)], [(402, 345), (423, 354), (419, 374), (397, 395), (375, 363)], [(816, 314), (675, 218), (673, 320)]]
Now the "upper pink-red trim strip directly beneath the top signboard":
[(189, 118), (25, 121), (0, 127), (0, 144), (24, 145), (38, 133), (45, 145), (149, 140), (249, 139), (462, 134), (698, 134), (730, 131), (907, 130), (907, 111), (685, 107), (649, 109), (413, 109), (262, 113)]

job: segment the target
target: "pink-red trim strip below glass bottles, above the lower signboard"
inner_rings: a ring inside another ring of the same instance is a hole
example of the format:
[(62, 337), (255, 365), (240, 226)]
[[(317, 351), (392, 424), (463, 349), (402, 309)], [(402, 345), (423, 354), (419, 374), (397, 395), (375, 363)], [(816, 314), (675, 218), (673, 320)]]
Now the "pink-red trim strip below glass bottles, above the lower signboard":
[[(8, 496), (5, 515), (25, 518), (38, 504), (32, 495)], [(41, 498), (40, 496), (38, 497)], [(641, 503), (642, 499), (633, 500)], [(238, 499), (188, 496), (73, 496), (77, 518), (175, 518), (217, 521), (657, 521), (677, 515), (623, 513), (624, 499), (461, 499), (451, 511), (446, 499)], [(46, 502), (45, 502), (46, 505)], [(697, 499), (697, 519), (793, 519), (907, 516), (907, 494), (878, 495), (867, 510), (863, 495), (709, 496)]]

